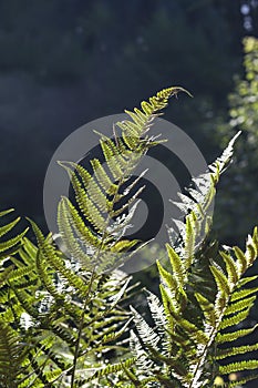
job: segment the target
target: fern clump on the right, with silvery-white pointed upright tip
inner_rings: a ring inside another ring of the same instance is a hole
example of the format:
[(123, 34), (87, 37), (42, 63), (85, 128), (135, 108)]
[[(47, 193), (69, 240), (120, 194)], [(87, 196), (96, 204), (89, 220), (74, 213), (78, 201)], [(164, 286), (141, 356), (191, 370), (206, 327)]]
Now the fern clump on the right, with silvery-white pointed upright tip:
[[(131, 346), (136, 357), (136, 376), (140, 382), (148, 381), (146, 387), (213, 387), (219, 374), (258, 367), (255, 359), (218, 364), (257, 349), (257, 345), (230, 346), (255, 329), (233, 331), (249, 315), (256, 298), (257, 287), (241, 287), (254, 280), (242, 276), (257, 257), (257, 228), (248, 236), (245, 252), (238, 247), (219, 252), (210, 246), (215, 252), (209, 256), (210, 249), (198, 242), (203, 225), (210, 227), (206, 214), (219, 176), (230, 162), (235, 140), (206, 175), (194, 180), (198, 190), (190, 188), (189, 198), (180, 196), (178, 206), (185, 221), (175, 247), (167, 244), (169, 266), (157, 262), (162, 304), (152, 293), (147, 296), (154, 326), (134, 312), (136, 331), (132, 333)], [(207, 257), (214, 259), (208, 262)], [(221, 347), (224, 344), (226, 348)]]

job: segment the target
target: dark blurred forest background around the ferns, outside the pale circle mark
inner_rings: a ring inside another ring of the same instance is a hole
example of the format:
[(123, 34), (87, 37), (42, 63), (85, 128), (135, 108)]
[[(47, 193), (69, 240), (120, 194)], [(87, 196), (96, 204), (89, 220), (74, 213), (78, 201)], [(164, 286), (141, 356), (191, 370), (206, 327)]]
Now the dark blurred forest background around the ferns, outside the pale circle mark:
[(42, 188), (59, 144), (182, 85), (194, 99), (173, 100), (165, 119), (207, 163), (242, 130), (215, 211), (215, 236), (241, 246), (258, 224), (256, 38), (258, 0), (0, 0), (0, 208), (47, 232)]

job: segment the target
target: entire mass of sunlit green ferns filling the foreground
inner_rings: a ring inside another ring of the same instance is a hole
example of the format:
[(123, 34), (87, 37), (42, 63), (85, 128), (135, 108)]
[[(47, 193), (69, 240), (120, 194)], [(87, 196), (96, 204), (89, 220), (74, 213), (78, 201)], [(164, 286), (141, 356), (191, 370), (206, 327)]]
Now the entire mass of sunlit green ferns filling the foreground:
[(161, 293), (145, 290), (151, 320), (128, 308), (140, 290), (121, 266), (144, 245), (126, 238), (144, 190), (135, 190), (144, 172), (134, 178), (133, 172), (163, 141), (149, 130), (179, 91), (165, 89), (141, 110), (125, 111), (130, 118), (116, 123), (113, 139), (100, 134), (105, 163), (91, 160), (93, 173), (60, 162), (74, 191), (74, 201), (59, 203), (62, 251), (30, 219), (37, 244), (28, 228), (6, 237), (20, 218), (0, 226), (1, 388), (208, 388), (219, 375), (258, 368), (257, 359), (234, 358), (258, 349), (235, 344), (256, 329), (242, 323), (258, 290), (251, 287), (258, 276), (244, 277), (258, 255), (257, 228), (245, 251), (203, 241), (238, 135), (175, 203), (182, 218), (168, 226), (167, 259), (157, 261)]

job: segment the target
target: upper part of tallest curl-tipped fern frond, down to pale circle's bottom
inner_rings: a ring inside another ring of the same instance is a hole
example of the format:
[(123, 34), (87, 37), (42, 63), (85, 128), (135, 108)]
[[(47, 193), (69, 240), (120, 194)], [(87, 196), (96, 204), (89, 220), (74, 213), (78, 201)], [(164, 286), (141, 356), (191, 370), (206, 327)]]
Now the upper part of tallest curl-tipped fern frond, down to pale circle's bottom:
[[(81, 265), (106, 272), (124, 264), (132, 255), (124, 255), (137, 241), (123, 238), (137, 205), (143, 187), (131, 195), (138, 178), (132, 181), (133, 171), (147, 150), (159, 142), (148, 135), (154, 119), (166, 108), (168, 99), (182, 88), (169, 88), (142, 103), (142, 111), (125, 111), (131, 120), (117, 122), (114, 139), (101, 135), (100, 144), (105, 157), (103, 167), (96, 159), (91, 161), (93, 174), (75, 163), (60, 162), (71, 178), (79, 210), (69, 198), (59, 205), (58, 222), (66, 253)], [(120, 134), (116, 131), (120, 130)], [(131, 181), (130, 181), (131, 180)], [(123, 190), (126, 185), (127, 188)], [(130, 184), (128, 184), (130, 183)], [(107, 194), (107, 195), (106, 195)], [(110, 198), (107, 197), (110, 196)], [(121, 200), (127, 197), (125, 204)], [(125, 215), (125, 210), (130, 212)], [(84, 219), (90, 223), (85, 225)]]

